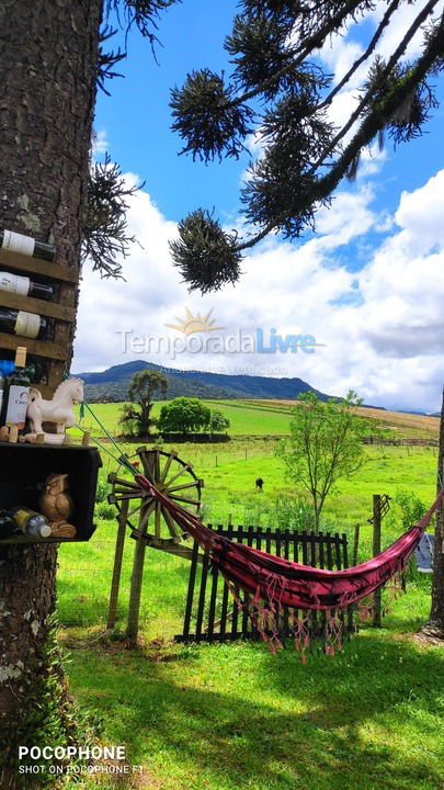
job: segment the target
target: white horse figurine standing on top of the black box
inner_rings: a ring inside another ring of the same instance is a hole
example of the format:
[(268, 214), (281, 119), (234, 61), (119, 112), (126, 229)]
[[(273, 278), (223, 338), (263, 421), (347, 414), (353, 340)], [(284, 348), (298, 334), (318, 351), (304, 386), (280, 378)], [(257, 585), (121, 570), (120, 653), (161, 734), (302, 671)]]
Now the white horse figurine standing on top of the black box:
[(31, 387), (30, 404), (26, 416), (34, 433), (43, 433), (42, 422), (55, 422), (57, 433), (65, 433), (72, 428), (76, 416), (75, 404), (83, 400), (83, 382), (81, 379), (67, 379), (58, 385), (52, 400), (45, 400), (38, 390)]

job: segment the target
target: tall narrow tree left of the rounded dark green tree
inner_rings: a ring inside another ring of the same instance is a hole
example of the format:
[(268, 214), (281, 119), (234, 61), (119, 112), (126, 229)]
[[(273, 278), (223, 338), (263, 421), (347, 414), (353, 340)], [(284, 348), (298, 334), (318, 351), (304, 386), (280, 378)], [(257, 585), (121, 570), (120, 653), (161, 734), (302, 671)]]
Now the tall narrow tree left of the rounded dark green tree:
[[(134, 374), (128, 387), (130, 404), (125, 404), (122, 409), (119, 422), (135, 426), (135, 433), (139, 437), (148, 437), (157, 419), (151, 417), (153, 396), (157, 392), (164, 395), (168, 390), (168, 379), (163, 373), (157, 371), (138, 371)], [(135, 405), (136, 404), (136, 405)]]

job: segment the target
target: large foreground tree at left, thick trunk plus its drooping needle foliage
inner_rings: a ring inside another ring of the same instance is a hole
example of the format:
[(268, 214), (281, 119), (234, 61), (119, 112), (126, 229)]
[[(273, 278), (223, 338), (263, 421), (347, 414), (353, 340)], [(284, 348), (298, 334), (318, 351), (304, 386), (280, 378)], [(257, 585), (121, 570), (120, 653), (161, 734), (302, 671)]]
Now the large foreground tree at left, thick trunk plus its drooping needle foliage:
[[(157, 16), (172, 2), (106, 0), (105, 10), (119, 7), (124, 24), (152, 42)], [(54, 244), (56, 262), (76, 269), (87, 237), (90, 252), (102, 247), (112, 269), (113, 248), (126, 236), (118, 172), (98, 177), (90, 189), (96, 84), (118, 59), (106, 53), (103, 8), (103, 0), (0, 3), (0, 228)], [(58, 330), (57, 342), (69, 357), (67, 330)], [(21, 780), (18, 745), (68, 743), (75, 726), (49, 618), (56, 545), (2, 546), (0, 558), (0, 786), (12, 789)], [(23, 783), (32, 787), (29, 776)]]

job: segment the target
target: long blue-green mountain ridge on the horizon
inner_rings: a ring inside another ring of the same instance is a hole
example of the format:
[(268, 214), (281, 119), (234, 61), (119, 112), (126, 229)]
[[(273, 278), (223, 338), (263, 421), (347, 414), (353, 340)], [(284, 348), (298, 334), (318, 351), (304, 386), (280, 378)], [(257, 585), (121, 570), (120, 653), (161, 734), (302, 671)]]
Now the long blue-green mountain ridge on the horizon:
[(243, 398), (295, 400), (299, 393), (312, 392), (320, 400), (330, 395), (315, 390), (301, 379), (272, 379), (254, 375), (229, 375), (205, 371), (180, 371), (163, 368), (152, 362), (135, 360), (113, 365), (102, 373), (76, 373), (86, 384), (86, 398), (91, 403), (127, 400), (129, 381), (141, 370), (163, 373), (168, 379), (168, 397), (181, 395), (208, 400)]

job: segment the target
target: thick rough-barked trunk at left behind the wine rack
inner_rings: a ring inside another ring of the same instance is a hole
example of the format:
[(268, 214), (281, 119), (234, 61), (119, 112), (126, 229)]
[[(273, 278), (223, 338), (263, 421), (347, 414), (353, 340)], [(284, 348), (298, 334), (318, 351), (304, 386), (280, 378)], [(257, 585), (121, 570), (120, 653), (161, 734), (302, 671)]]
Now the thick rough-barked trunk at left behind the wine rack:
[[(67, 267), (79, 267), (101, 14), (102, 0), (0, 3), (0, 228), (54, 244), (56, 261)], [(72, 337), (59, 340), (71, 353)], [(1, 549), (3, 748), (14, 749), (30, 689), (45, 676), (56, 556), (54, 545)], [(14, 787), (5, 774), (0, 783)]]

